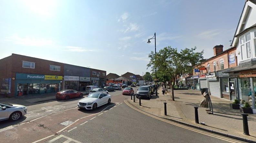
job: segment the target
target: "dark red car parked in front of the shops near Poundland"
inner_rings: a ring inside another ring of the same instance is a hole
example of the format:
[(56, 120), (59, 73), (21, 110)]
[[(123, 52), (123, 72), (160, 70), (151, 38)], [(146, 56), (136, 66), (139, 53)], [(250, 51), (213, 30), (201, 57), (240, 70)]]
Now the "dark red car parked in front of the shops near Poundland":
[(69, 98), (75, 98), (75, 97), (83, 97), (82, 92), (78, 92), (77, 90), (72, 90), (72, 89), (66, 89), (66, 90), (61, 90), (56, 93), (56, 98), (57, 99), (65, 99), (68, 100)]

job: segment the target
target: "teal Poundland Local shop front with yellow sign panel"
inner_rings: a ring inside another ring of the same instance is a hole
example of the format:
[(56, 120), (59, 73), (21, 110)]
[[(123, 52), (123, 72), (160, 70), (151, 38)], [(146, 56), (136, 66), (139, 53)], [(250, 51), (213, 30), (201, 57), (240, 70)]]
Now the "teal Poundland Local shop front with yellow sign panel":
[(15, 96), (55, 93), (62, 90), (62, 76), (16, 73)]

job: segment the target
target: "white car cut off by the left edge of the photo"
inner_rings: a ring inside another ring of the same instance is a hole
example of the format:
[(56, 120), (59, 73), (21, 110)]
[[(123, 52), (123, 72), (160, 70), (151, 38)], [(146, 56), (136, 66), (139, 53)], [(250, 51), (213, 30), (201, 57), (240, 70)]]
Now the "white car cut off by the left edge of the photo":
[(11, 121), (16, 121), (26, 114), (26, 106), (0, 103), (0, 121), (8, 119), (10, 119)]

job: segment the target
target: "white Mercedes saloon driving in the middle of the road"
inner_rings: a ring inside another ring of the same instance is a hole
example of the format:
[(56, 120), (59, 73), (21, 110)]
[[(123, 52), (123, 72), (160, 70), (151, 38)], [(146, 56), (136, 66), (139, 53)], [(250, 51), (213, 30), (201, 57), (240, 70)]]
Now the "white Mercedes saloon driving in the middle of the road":
[(78, 101), (77, 107), (95, 110), (97, 107), (111, 103), (111, 96), (102, 92), (94, 92)]

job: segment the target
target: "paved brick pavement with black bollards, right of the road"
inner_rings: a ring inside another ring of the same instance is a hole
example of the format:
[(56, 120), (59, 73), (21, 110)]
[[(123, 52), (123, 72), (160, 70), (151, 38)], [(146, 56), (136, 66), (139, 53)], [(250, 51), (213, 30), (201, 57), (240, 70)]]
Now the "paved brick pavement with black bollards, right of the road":
[[(207, 114), (205, 111), (209, 108), (198, 108), (199, 122), (205, 125), (195, 123), (194, 106), (199, 106), (203, 96), (197, 90), (174, 90), (175, 101), (172, 101), (171, 92), (162, 95), (160, 89), (159, 96), (153, 96), (150, 100), (142, 99), (141, 106), (136, 99), (128, 100), (130, 104), (149, 114), (156, 115), (165, 119), (192, 125), (211, 132), (223, 133), (224, 135), (239, 137), (244, 140), (256, 141), (256, 114), (248, 116), (249, 131), (251, 136), (243, 135), (243, 125), (241, 112), (236, 109), (230, 109), (229, 100), (217, 97), (211, 97), (213, 105), (213, 114)], [(167, 102), (167, 115), (164, 115), (164, 102)]]

